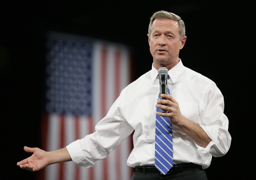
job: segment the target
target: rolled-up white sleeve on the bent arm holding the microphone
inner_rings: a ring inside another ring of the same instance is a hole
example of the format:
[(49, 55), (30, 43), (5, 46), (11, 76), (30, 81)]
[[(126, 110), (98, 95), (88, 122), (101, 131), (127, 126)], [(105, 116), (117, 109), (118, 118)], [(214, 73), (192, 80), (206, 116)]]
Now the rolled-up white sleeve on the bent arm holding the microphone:
[(200, 157), (208, 164), (212, 156), (220, 157), (228, 152), (231, 136), (228, 132), (228, 118), (224, 114), (224, 98), (215, 83), (211, 83), (204, 92), (201, 103), (200, 126), (212, 141), (205, 148), (196, 146)]

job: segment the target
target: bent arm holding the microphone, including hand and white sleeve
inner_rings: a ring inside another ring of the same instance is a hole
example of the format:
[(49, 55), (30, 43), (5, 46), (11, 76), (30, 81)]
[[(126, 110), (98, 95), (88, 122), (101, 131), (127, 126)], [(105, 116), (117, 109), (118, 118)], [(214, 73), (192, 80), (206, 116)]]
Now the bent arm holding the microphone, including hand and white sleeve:
[(202, 125), (186, 119), (181, 114), (179, 104), (173, 97), (167, 94), (161, 94), (161, 96), (167, 100), (158, 100), (157, 103), (166, 104), (167, 106), (156, 104), (156, 107), (166, 111), (169, 108), (171, 110), (168, 113), (157, 112), (158, 115), (168, 117), (172, 124), (177, 125), (184, 131), (197, 145), (201, 146), (201, 149), (209, 146), (207, 153), (210, 148), (211, 154), (215, 157), (227, 153), (231, 144), (231, 136), (228, 132), (228, 119), (223, 113), (223, 96), (215, 83), (208, 87), (204, 94), (204, 101), (201, 102), (204, 104), (200, 114)]

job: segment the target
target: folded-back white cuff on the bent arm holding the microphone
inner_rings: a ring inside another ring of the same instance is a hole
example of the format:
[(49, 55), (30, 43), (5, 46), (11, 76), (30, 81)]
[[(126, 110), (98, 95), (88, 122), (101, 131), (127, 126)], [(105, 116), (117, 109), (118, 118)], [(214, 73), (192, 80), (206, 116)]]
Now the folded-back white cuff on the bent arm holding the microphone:
[(211, 139), (211, 142), (206, 147), (201, 147), (196, 144), (197, 151), (205, 163), (205, 166), (208, 167), (211, 163), (212, 155), (210, 154), (211, 146), (214, 144), (219, 144), (218, 132), (219, 132), (219, 125), (210, 125), (210, 126), (203, 126), (200, 125), (201, 128), (205, 131), (208, 137)]

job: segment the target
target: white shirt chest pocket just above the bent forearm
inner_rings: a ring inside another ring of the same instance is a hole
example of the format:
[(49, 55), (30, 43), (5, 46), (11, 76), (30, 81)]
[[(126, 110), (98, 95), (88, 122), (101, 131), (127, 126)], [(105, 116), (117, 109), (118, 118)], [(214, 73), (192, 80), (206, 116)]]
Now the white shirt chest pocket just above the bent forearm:
[(201, 125), (197, 103), (181, 103), (179, 104), (179, 108), (185, 118)]

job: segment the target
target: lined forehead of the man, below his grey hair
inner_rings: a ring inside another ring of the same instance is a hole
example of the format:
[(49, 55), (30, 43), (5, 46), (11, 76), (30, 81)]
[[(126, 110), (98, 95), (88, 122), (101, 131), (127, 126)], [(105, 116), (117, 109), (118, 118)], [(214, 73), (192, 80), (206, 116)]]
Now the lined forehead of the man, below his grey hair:
[(151, 30), (168, 30), (179, 33), (179, 23), (172, 19), (155, 19)]

